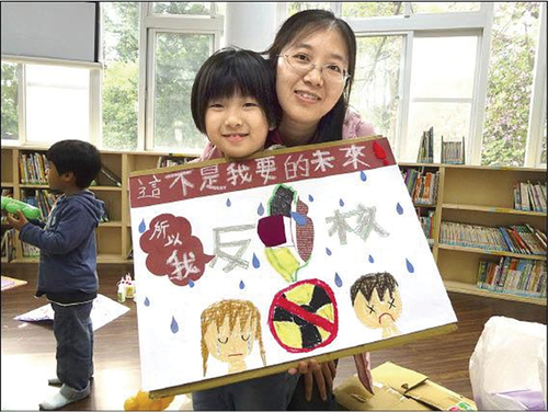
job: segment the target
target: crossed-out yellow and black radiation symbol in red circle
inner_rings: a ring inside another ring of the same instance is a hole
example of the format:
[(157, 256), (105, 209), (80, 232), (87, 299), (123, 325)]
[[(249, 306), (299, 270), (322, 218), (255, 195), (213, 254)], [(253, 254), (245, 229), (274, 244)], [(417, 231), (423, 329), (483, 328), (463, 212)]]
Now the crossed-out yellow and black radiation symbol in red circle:
[(330, 344), (339, 331), (333, 290), (319, 279), (294, 283), (274, 296), (269, 328), (287, 352), (310, 352)]

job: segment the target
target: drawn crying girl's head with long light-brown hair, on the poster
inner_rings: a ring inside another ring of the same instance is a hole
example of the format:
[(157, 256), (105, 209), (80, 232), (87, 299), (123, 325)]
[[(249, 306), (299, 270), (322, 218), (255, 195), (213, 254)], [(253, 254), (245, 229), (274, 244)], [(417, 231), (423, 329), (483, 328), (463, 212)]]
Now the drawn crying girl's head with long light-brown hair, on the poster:
[(221, 300), (202, 313), (202, 357), (204, 376), (209, 355), (228, 364), (228, 373), (247, 370), (246, 357), (259, 341), (265, 364), (261, 335), (261, 314), (248, 300)]

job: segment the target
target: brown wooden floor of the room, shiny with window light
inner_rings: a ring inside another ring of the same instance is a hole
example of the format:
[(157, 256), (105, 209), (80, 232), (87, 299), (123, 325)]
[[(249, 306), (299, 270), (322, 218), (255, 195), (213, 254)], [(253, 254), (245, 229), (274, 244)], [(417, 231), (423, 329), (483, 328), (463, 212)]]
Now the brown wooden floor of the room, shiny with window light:
[[(115, 299), (116, 282), (132, 267), (100, 267), (100, 293)], [(34, 298), (36, 265), (2, 265), (2, 274), (28, 281), (25, 286), (4, 290), (2, 301), (2, 391), (1, 410), (37, 410), (39, 401), (55, 393), (47, 379), (55, 376), (55, 339), (52, 328), (13, 320), (38, 308), (46, 300)], [(372, 354), (373, 366), (390, 360), (427, 375), (465, 397), (472, 398), (468, 362), (483, 324), (493, 316), (546, 324), (546, 307), (461, 294), (449, 294), (458, 318), (452, 334), (416, 341)], [(95, 376), (90, 398), (66, 410), (123, 410), (126, 398), (140, 387), (136, 308), (95, 332)], [(355, 374), (351, 358), (339, 364), (335, 386)], [(187, 409), (185, 396), (175, 398), (170, 410)]]

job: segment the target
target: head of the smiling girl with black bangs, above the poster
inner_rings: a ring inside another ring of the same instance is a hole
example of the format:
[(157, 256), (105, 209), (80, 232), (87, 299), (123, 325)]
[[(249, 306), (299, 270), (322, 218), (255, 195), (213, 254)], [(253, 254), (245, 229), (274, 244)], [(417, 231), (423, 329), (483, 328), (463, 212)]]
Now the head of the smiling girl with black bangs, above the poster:
[(275, 102), (267, 62), (233, 47), (213, 54), (192, 87), (192, 117), (217, 158), (242, 159), (262, 150), (275, 127)]

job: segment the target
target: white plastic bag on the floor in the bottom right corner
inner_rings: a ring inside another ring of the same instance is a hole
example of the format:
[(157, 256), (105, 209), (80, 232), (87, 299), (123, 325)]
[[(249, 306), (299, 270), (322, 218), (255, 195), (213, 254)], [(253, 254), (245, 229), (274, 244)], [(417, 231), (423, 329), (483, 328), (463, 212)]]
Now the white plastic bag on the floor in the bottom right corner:
[(546, 324), (492, 317), (470, 357), (478, 410), (546, 410)]

